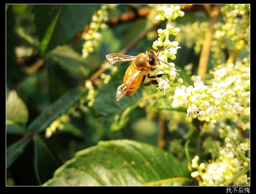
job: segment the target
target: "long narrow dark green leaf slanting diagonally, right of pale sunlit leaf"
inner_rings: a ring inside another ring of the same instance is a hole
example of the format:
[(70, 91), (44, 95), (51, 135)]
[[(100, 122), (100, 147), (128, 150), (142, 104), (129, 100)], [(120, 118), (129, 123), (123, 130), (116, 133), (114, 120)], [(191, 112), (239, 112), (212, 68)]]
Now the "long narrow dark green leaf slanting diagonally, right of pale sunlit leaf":
[(37, 118), (31, 122), (28, 129), (30, 131), (35, 130), (38, 133), (45, 130), (58, 116), (66, 113), (66, 111), (73, 106), (86, 91), (87, 89), (84, 87), (78, 87), (66, 92), (63, 97), (58, 99), (47, 110), (37, 116)]

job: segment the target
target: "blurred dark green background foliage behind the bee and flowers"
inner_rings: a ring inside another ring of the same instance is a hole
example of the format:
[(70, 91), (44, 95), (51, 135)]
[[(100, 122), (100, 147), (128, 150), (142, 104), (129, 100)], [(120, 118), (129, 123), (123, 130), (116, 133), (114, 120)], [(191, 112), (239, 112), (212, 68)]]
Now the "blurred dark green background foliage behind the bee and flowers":
[[(196, 154), (198, 131), (193, 126), (199, 126), (198, 120), (193, 125), (182, 121), (186, 110), (173, 110), (156, 86), (140, 87), (117, 103), (115, 92), (128, 63), (116, 72), (103, 68), (110, 52), (136, 56), (152, 49), (165, 22), (150, 24), (148, 5), (117, 5), (108, 10), (109, 28), (100, 31), (99, 46), (84, 59), (81, 35), (100, 6), (6, 5), (6, 185), (42, 185), (77, 151), (99, 141), (148, 143), (187, 165), (191, 158), (185, 157), (184, 146), (189, 139), (188, 151)], [(178, 26), (208, 20), (202, 5), (183, 11), (185, 16), (175, 20)], [(183, 67), (194, 64), (191, 74), (196, 75), (199, 53), (186, 40), (179, 43), (175, 67), (193, 85)], [(208, 68), (213, 68), (210, 62)], [(104, 83), (106, 75), (111, 78)], [(85, 87), (85, 80), (93, 87)], [(47, 136), (49, 127), (54, 133)], [(203, 148), (199, 151), (207, 161), (211, 153)]]

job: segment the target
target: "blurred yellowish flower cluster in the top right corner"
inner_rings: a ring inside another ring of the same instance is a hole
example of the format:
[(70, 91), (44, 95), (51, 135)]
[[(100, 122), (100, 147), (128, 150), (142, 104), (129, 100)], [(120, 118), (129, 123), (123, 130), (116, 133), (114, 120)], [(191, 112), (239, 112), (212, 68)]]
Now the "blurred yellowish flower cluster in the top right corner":
[[(226, 61), (225, 49), (244, 49), (250, 52), (250, 4), (227, 4), (220, 8), (224, 22), (214, 25), (211, 43), (212, 64)], [(232, 44), (227, 44), (232, 42)]]

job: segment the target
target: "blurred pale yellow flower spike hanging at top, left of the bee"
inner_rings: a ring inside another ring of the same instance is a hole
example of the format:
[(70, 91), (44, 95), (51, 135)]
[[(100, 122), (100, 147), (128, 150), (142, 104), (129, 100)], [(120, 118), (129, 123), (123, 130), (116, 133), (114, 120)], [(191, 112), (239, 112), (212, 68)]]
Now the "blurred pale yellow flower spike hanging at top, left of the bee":
[(81, 36), (82, 39), (86, 40), (82, 49), (82, 57), (84, 59), (88, 57), (90, 52), (94, 51), (94, 47), (99, 46), (99, 43), (102, 40), (102, 35), (99, 33), (99, 30), (108, 28), (108, 25), (104, 23), (108, 20), (107, 9), (115, 8), (115, 6), (115, 4), (102, 5), (100, 9), (93, 14), (89, 30)]

